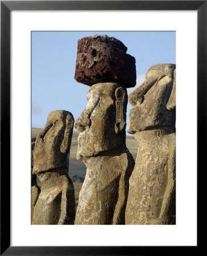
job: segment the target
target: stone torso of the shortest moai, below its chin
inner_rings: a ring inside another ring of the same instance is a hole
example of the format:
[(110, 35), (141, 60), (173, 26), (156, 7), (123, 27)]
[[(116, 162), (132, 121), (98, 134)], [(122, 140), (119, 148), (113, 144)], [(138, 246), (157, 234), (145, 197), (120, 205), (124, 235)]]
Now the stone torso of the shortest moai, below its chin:
[(60, 168), (39, 173), (41, 193), (34, 207), (33, 225), (74, 224), (73, 183), (67, 170)]

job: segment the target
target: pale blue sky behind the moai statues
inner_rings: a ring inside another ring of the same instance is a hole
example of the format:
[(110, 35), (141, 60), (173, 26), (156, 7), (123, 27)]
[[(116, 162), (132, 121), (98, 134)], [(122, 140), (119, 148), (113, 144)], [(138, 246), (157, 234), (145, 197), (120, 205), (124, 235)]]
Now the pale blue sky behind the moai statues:
[[(95, 34), (121, 40), (135, 57), (135, 88), (152, 65), (176, 63), (174, 31), (32, 31), (32, 127), (43, 128), (53, 110), (67, 110), (75, 120), (82, 113), (90, 87), (74, 80), (77, 41)], [(130, 109), (128, 103), (127, 127)]]

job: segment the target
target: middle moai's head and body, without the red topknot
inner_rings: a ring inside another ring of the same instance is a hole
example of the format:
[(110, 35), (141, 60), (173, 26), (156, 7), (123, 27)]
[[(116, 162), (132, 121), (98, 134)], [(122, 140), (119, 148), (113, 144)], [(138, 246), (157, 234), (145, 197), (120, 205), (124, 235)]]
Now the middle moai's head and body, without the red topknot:
[(78, 136), (77, 159), (86, 167), (75, 224), (125, 224), (129, 177), (134, 159), (126, 147), (125, 86), (93, 85), (88, 104), (74, 123)]

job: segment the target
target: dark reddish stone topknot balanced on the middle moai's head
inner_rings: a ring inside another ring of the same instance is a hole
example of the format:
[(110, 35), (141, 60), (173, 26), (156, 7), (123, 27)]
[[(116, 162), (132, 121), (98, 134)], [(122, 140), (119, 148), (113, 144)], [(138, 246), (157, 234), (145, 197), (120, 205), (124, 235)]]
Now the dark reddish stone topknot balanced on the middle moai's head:
[(111, 36), (79, 39), (74, 79), (89, 86), (98, 82), (119, 82), (127, 88), (134, 87), (136, 61), (126, 51), (127, 47)]

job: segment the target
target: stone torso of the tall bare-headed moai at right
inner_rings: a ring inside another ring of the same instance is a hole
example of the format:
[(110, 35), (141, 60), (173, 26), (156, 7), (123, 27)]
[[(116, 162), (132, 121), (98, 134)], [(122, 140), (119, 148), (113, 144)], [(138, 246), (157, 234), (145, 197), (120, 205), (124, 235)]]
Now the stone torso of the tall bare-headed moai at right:
[(126, 224), (175, 224), (175, 132), (155, 129), (134, 136), (138, 155), (130, 177)]

